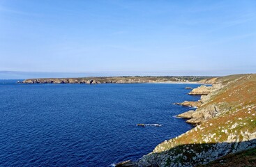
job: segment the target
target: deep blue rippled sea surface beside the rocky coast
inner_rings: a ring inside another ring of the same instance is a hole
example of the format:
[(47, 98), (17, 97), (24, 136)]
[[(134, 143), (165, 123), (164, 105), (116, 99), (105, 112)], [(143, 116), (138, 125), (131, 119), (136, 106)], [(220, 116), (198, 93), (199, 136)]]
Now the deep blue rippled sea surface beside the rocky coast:
[[(112, 166), (192, 128), (175, 118), (196, 84), (15, 84), (0, 80), (0, 166)], [(161, 127), (137, 127), (136, 124)]]

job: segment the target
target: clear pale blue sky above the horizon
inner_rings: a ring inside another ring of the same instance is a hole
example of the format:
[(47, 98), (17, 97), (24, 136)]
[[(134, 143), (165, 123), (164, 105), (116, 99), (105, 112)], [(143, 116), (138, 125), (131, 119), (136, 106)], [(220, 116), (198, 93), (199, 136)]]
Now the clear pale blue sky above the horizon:
[(2, 73), (220, 76), (255, 54), (255, 0), (0, 0)]

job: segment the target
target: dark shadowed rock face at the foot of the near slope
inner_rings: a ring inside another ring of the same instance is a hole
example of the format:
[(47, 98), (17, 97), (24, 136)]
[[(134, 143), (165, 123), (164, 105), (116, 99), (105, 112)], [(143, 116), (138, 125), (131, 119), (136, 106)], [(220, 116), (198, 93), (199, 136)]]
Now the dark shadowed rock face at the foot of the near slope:
[[(255, 138), (255, 134), (249, 134), (249, 136)], [(181, 145), (168, 152), (160, 154), (153, 152), (148, 154), (137, 161), (137, 166), (197, 166), (199, 164), (208, 164), (227, 154), (255, 148), (255, 145), (255, 139), (238, 143), (225, 142), (214, 144), (206, 143), (202, 145)], [(203, 148), (200, 148), (200, 146)], [(135, 165), (133, 164), (133, 166)]]

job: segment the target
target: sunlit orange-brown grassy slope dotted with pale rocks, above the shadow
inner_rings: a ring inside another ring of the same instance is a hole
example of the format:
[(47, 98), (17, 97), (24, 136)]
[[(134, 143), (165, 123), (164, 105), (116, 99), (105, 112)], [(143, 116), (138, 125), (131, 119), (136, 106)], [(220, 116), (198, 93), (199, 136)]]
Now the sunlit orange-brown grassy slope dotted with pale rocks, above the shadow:
[(199, 145), (204, 143), (225, 142), (227, 134), (234, 134), (238, 142), (244, 139), (243, 132), (256, 132), (256, 74), (222, 77), (217, 79), (217, 82), (227, 86), (211, 97), (203, 107), (221, 104), (225, 112), (216, 118), (202, 122), (186, 134), (161, 143), (153, 152), (166, 154), (172, 148), (179, 148), (181, 145), (201, 147)]

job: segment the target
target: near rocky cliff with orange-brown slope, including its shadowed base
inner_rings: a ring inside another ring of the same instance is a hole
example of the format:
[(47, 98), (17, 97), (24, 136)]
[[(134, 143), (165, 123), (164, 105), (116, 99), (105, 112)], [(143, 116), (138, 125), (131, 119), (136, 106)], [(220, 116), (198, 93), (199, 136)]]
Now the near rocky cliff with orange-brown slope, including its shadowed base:
[(181, 114), (195, 128), (160, 143), (128, 166), (197, 166), (255, 148), (256, 74), (220, 77), (209, 90), (195, 111)]

